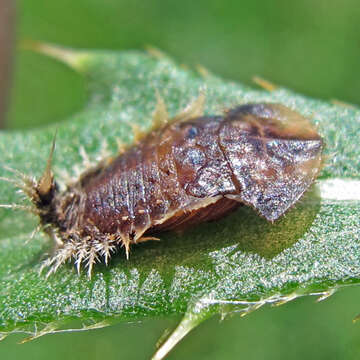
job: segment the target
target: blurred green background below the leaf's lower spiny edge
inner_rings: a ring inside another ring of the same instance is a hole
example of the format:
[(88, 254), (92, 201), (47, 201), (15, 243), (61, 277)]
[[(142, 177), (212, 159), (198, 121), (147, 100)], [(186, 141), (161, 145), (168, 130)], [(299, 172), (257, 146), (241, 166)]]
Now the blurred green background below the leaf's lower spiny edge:
[[(360, 288), (350, 288), (317, 304), (298, 299), (265, 307), (247, 317), (211, 319), (190, 333), (169, 360), (355, 360), (360, 354)], [(132, 360), (150, 359), (155, 343), (178, 319), (119, 324), (84, 333), (47, 335), (17, 345), (11, 336), (0, 345), (1, 359)]]

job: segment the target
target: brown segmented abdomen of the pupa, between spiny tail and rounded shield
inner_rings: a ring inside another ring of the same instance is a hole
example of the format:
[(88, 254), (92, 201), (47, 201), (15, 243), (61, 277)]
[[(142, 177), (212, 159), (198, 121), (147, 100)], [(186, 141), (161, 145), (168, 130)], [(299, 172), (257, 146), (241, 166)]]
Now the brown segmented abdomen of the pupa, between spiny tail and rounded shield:
[(220, 117), (169, 125), (88, 176), (81, 225), (136, 241), (146, 231), (183, 227), (236, 207), (226, 200), (201, 210), (236, 192), (218, 143), (220, 125)]

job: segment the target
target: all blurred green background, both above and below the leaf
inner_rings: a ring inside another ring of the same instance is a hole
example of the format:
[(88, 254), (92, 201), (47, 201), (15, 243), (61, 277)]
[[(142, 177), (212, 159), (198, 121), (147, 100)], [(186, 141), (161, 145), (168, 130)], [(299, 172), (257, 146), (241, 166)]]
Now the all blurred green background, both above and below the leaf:
[[(155, 46), (251, 84), (259, 75), (308, 96), (360, 104), (358, 0), (18, 0), (17, 38), (75, 48)], [(16, 54), (8, 128), (60, 121), (86, 101), (82, 78), (52, 59)], [(321, 304), (299, 299), (201, 325), (170, 359), (359, 359), (360, 288)], [(0, 344), (1, 359), (146, 359), (178, 319), (119, 324)]]

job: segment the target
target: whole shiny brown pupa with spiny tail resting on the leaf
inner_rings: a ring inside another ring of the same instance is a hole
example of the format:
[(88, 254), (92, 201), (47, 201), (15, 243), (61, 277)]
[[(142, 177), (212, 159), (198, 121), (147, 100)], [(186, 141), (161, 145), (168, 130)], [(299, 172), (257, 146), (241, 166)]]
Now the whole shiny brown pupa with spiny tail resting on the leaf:
[[(91, 276), (100, 258), (160, 231), (218, 219), (241, 204), (274, 221), (304, 194), (322, 164), (311, 123), (280, 104), (248, 104), (203, 116), (204, 95), (169, 120), (158, 96), (153, 129), (61, 192), (51, 157), (38, 181), (25, 178), (44, 231), (56, 240), (48, 274), (74, 258)], [(246, 219), (243, 219), (246, 221)]]

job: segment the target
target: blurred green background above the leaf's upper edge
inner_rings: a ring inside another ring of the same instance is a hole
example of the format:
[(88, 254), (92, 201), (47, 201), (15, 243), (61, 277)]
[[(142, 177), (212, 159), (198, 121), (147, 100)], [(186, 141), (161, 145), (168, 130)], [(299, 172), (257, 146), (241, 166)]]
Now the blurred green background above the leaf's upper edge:
[[(358, 0), (19, 0), (18, 40), (143, 49), (228, 79), (259, 75), (305, 95), (360, 104)], [(79, 76), (20, 51), (9, 127), (57, 121), (85, 101)]]

